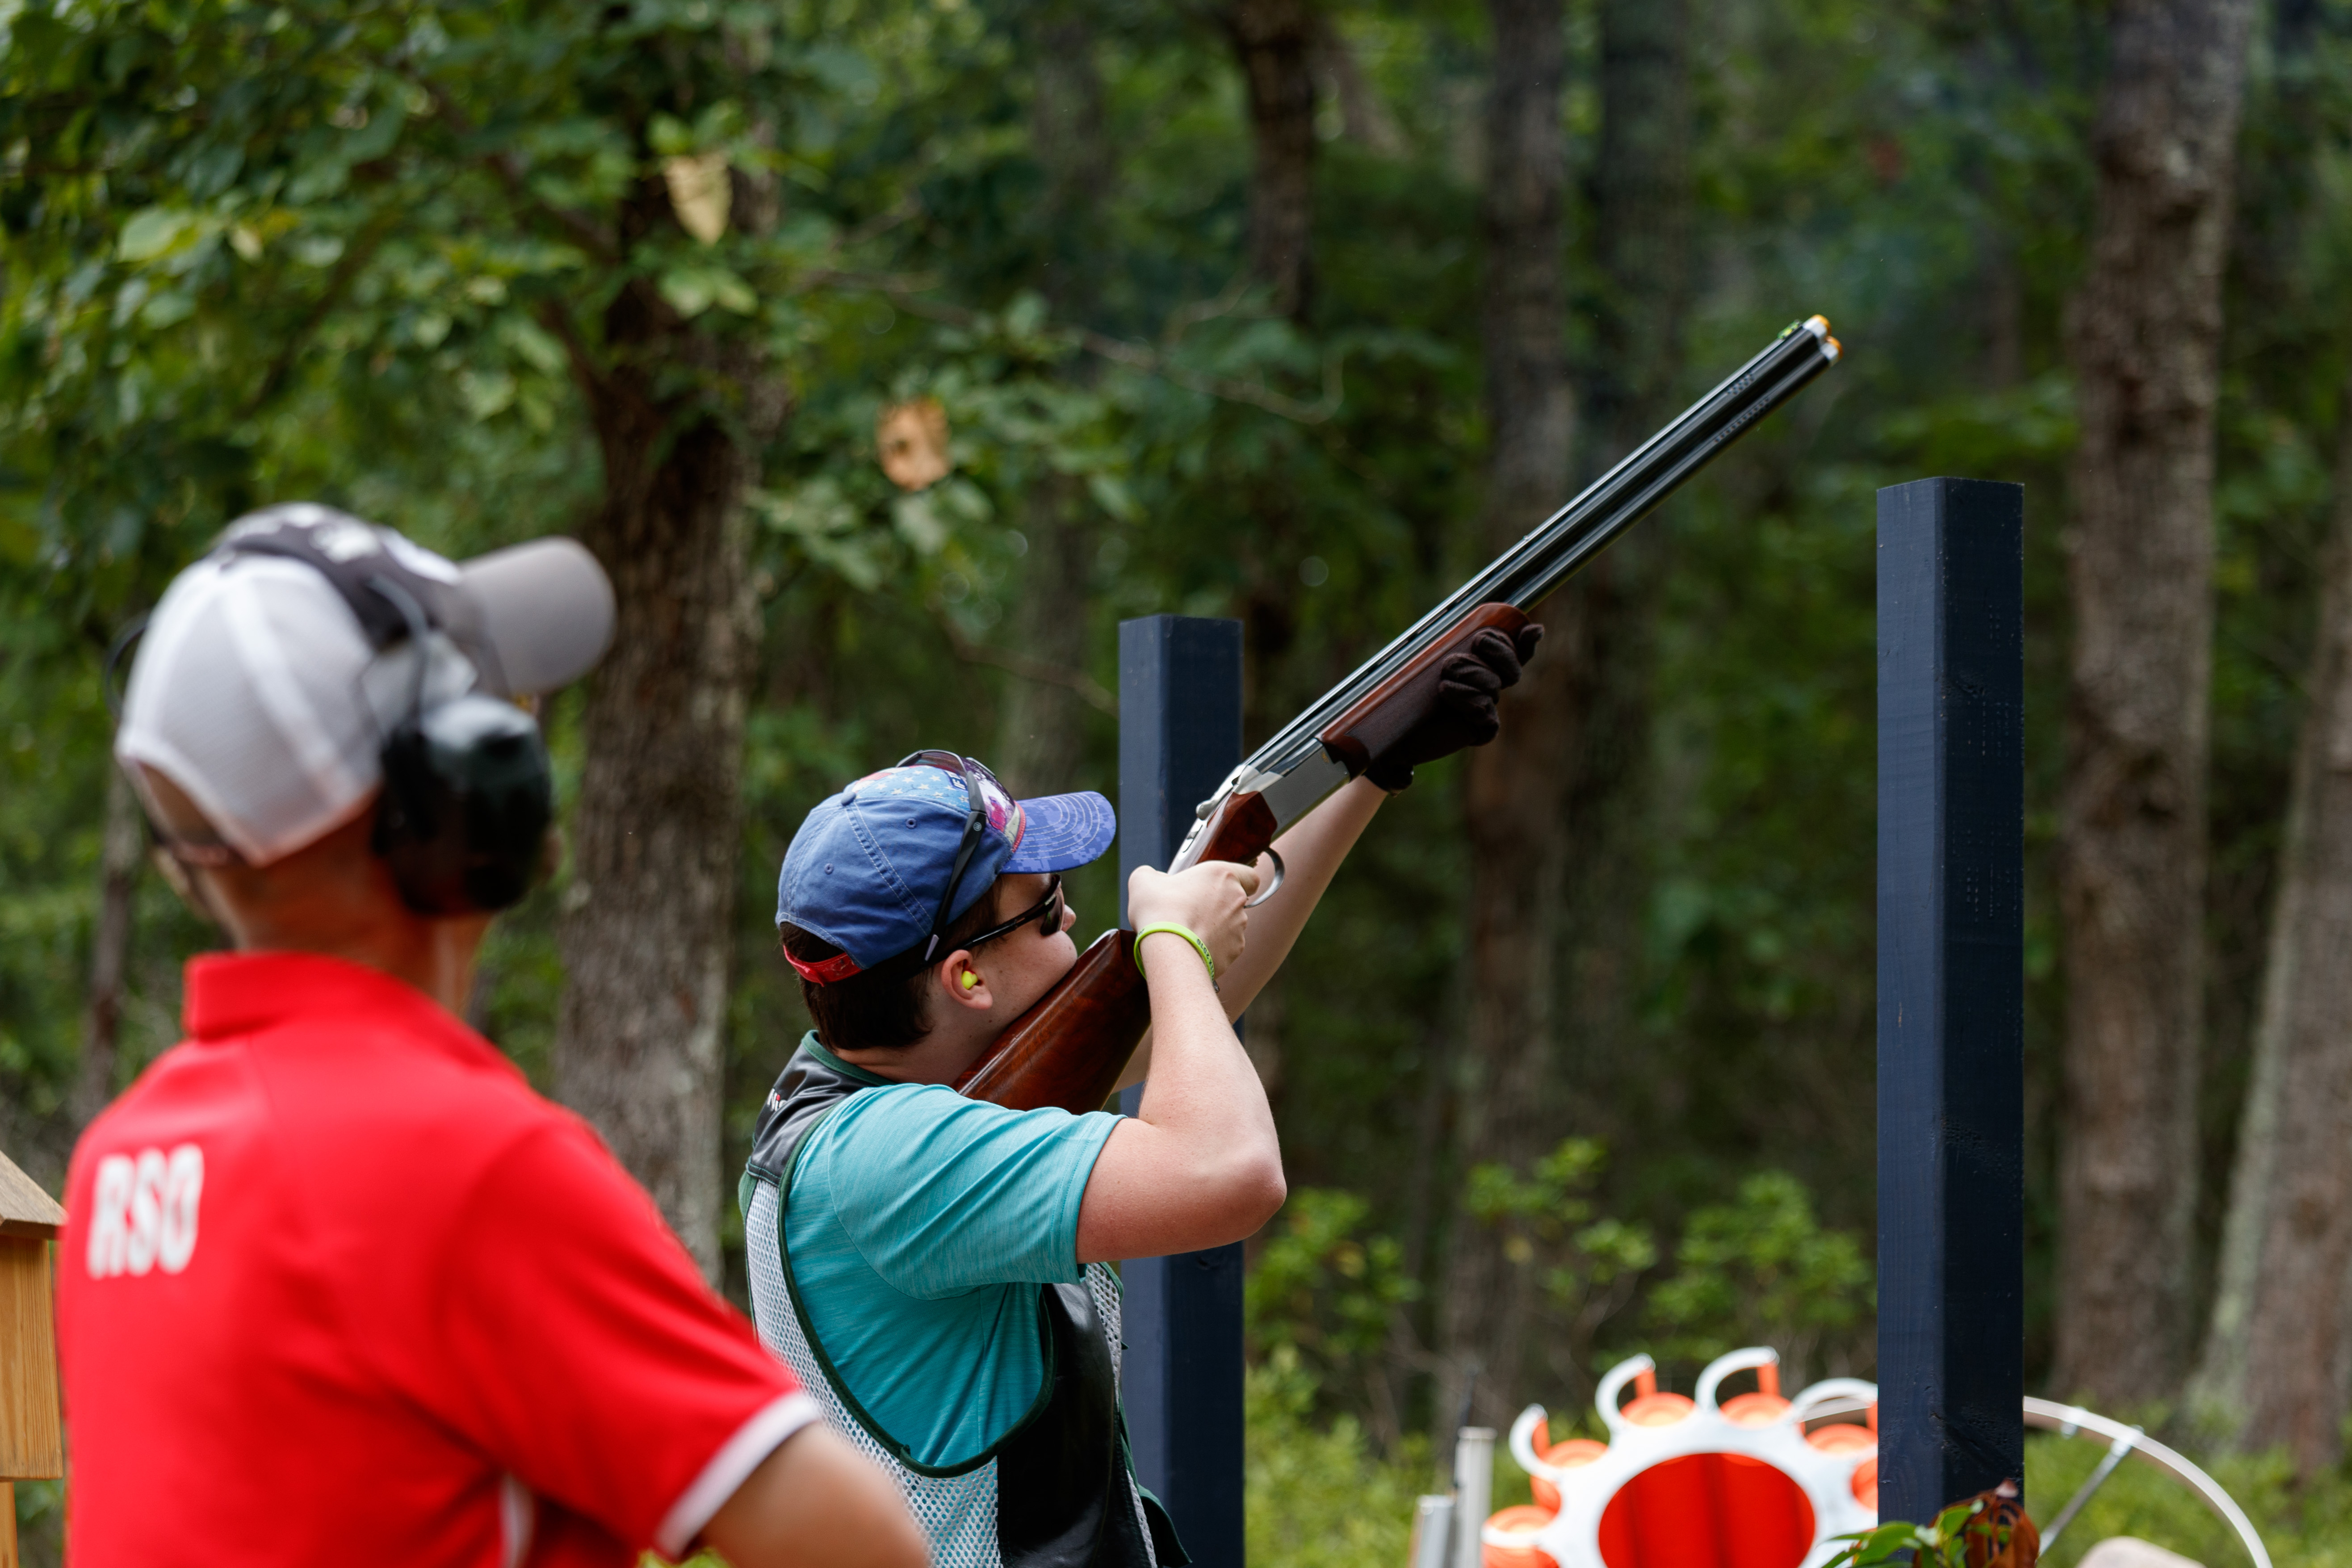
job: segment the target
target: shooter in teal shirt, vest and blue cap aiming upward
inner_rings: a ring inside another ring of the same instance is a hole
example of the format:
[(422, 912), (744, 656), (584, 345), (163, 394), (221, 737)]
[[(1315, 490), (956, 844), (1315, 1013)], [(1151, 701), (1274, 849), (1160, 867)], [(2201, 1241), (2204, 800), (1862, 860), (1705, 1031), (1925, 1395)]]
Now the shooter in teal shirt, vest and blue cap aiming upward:
[(1439, 710), (1277, 842), (1289, 875), (1254, 914), (1251, 867), (1136, 870), (1152, 1032), (1131, 1119), (948, 1088), (1077, 961), (1058, 872), (1110, 846), (1110, 802), (1016, 802), (969, 757), (917, 752), (793, 837), (776, 924), (816, 1027), (743, 1178), (753, 1309), (941, 1568), (1185, 1561), (1129, 1472), (1105, 1265), (1237, 1241), (1282, 1206), (1232, 1020), (1414, 764), (1494, 738), (1536, 635), (1451, 658)]

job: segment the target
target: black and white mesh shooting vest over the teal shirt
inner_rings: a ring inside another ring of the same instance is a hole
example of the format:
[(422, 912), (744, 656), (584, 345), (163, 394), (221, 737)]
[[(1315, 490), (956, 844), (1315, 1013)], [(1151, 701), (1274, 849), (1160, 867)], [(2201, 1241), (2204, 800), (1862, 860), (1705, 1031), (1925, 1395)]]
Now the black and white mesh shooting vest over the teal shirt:
[(866, 1413), (816, 1340), (793, 1284), (783, 1215), (807, 1138), (870, 1088), (797, 1051), (767, 1098), (743, 1173), (743, 1244), (760, 1338), (818, 1396), (833, 1429), (906, 1493), (936, 1568), (1178, 1568), (1167, 1512), (1136, 1486), (1120, 1413), (1120, 1281), (1089, 1262), (1084, 1284), (1040, 1286), (1047, 1349), (1037, 1401), (976, 1458), (917, 1462)]

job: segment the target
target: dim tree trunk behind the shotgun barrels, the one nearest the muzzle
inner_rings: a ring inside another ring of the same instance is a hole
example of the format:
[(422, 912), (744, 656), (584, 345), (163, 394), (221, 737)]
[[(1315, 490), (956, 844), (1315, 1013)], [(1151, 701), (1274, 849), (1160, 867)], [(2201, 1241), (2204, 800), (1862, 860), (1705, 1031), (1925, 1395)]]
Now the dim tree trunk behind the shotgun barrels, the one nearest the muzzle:
[[(1602, 136), (1590, 181), (1599, 270), (1592, 364), (1578, 376), (1585, 477), (1599, 477), (1672, 414), (1691, 299), (1691, 66), (1684, 0), (1604, 0)], [(1599, 1121), (1616, 1067), (1637, 1060), (1642, 924), (1649, 900), (1649, 679), (1665, 517), (1635, 529), (1548, 609), (1581, 637), (1569, 835), (1576, 875), (1562, 910), (1562, 1081)]]

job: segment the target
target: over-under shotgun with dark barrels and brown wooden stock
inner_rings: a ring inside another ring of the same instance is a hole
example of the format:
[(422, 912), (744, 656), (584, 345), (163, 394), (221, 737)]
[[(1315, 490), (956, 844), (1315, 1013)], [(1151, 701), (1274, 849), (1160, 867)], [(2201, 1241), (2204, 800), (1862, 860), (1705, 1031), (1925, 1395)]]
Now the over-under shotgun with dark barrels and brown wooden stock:
[[(1748, 425), (1837, 364), (1830, 322), (1809, 317), (1693, 402), (1665, 430), (1595, 480), (1536, 531), (1489, 562), (1348, 679), (1315, 698), (1200, 804), (1169, 870), (1200, 860), (1249, 865), (1275, 837), (1348, 783), (1437, 703), (1437, 672), (1486, 628), (1505, 635), (1618, 534), (1672, 496)], [(1105, 931), (1061, 983), (1016, 1018), (957, 1079), (976, 1100), (1014, 1110), (1101, 1110), (1150, 1025), (1134, 938)]]

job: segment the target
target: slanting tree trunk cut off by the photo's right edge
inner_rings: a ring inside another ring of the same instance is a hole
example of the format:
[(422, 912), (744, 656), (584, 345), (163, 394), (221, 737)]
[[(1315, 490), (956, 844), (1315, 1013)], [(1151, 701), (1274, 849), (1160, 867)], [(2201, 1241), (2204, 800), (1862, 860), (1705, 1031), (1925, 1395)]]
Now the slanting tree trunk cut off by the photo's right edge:
[[(2352, 400), (2352, 386), (2345, 388)], [(2347, 404), (2352, 407), (2352, 404)], [(2194, 1401), (2303, 1479), (2343, 1458), (2352, 1284), (2352, 416), (2296, 748), (2220, 1298)]]

